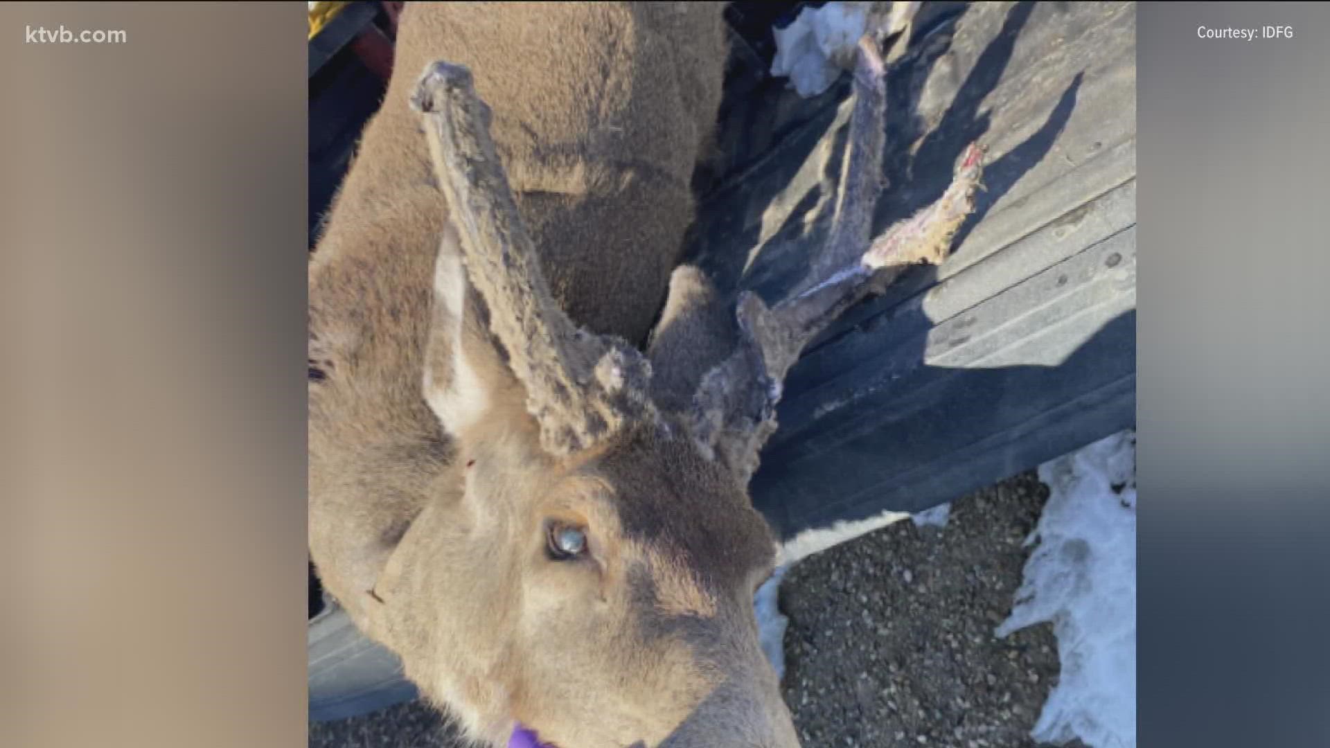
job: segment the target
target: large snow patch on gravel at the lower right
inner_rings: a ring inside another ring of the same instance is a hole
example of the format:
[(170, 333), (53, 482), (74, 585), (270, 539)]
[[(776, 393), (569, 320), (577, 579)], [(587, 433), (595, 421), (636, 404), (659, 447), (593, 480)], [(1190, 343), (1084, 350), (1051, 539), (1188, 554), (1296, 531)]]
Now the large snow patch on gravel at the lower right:
[(1052, 622), (1061, 676), (1031, 736), (1136, 745), (1136, 434), (1039, 467), (1051, 488), (1005, 638)]

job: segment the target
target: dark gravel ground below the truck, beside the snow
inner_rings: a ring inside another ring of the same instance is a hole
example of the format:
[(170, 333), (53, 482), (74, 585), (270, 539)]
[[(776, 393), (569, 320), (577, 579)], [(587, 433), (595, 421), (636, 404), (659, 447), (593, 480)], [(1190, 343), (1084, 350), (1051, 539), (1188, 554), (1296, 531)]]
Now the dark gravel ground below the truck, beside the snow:
[[(809, 748), (1031, 748), (1057, 679), (1049, 626), (1003, 640), (1048, 490), (1033, 472), (803, 560), (781, 586), (785, 697)], [(419, 704), (310, 725), (311, 748), (462, 748)]]

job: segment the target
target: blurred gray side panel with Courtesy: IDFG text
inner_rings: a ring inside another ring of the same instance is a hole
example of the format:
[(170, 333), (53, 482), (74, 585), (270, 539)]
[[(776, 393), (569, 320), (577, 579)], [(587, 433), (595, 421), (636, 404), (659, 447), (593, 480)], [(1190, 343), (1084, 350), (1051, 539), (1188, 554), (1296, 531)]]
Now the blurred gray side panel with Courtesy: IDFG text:
[(1330, 7), (1138, 13), (1140, 745), (1330, 745)]

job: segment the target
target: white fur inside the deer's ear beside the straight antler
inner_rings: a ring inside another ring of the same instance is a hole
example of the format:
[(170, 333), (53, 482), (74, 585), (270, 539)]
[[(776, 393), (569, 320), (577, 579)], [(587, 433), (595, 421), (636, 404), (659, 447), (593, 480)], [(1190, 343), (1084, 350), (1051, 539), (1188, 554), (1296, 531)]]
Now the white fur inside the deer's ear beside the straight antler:
[[(448, 238), (444, 238), (448, 242)], [(458, 434), (471, 423), (475, 423), (489, 406), (489, 397), (484, 382), (476, 370), (467, 362), (462, 349), (462, 315), (467, 295), (467, 273), (462, 266), (462, 257), (448, 246), (439, 249), (439, 260), (434, 266), (434, 293), (435, 298), (443, 302), (452, 325), (451, 354), (452, 354), (452, 381), (447, 387), (438, 387), (430, 367), (424, 370), (424, 397), (426, 402), (439, 417), (444, 430)]]

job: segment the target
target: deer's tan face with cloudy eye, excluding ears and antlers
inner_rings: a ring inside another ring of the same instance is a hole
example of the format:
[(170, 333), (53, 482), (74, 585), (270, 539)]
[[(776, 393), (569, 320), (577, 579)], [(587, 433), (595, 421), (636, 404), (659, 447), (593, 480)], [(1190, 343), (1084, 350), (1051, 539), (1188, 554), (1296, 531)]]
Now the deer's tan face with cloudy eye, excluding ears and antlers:
[(438, 588), (400, 604), (431, 607), (428, 689), (496, 739), (507, 717), (560, 747), (798, 745), (753, 614), (774, 542), (733, 474), (656, 427), (567, 459), (537, 434), (468, 430), (464, 492), (422, 527)]

